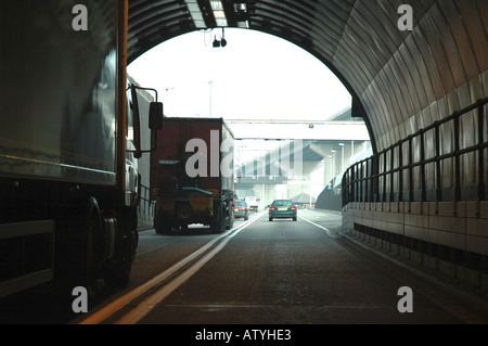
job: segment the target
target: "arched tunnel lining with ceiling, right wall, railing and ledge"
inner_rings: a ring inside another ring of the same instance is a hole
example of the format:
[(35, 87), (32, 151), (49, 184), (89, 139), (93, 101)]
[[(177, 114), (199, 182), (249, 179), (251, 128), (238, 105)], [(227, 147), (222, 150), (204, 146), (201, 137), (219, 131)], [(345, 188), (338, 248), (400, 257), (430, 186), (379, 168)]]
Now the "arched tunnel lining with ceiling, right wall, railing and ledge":
[(343, 178), (345, 232), (488, 286), (487, 1), (129, 0), (128, 63), (220, 27), (297, 44), (352, 95), (374, 155)]

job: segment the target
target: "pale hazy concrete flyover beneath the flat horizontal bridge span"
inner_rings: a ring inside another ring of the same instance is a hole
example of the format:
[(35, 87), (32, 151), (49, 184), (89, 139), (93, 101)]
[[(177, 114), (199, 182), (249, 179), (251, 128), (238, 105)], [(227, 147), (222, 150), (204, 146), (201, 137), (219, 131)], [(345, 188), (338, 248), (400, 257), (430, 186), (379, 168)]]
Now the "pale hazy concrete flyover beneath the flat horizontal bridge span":
[[(372, 154), (369, 140), (282, 140), (271, 150), (251, 150), (253, 157), (241, 161), (236, 144), (236, 184), (239, 198), (258, 196), (260, 205), (277, 198), (308, 200), (307, 204), (342, 208), (343, 175), (354, 163)], [(334, 191), (330, 191), (334, 190)], [(328, 203), (322, 197), (328, 192)], [(317, 201), (319, 200), (319, 201)], [(301, 202), (305, 203), (305, 202)]]

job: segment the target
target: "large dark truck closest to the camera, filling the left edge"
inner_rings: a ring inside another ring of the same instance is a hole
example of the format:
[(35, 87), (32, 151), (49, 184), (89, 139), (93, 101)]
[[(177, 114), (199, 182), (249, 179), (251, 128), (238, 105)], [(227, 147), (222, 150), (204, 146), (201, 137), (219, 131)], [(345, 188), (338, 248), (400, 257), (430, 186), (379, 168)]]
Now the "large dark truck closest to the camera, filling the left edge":
[(129, 280), (143, 150), (127, 28), (124, 0), (0, 3), (0, 297)]

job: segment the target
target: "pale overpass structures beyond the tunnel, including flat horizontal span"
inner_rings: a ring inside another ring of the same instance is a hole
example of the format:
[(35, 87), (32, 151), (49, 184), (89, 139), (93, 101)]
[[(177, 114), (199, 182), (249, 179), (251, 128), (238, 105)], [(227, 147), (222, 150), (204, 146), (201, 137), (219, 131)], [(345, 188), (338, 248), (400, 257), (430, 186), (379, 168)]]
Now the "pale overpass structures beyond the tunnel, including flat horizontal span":
[[(336, 187), (341, 184), (345, 168), (365, 158), (364, 144), (370, 145), (368, 129), (361, 120), (226, 119), (226, 123), (237, 140), (237, 196), (257, 195), (261, 205), (274, 198), (304, 195), (309, 196), (308, 204), (314, 203), (331, 181)], [(249, 141), (259, 144), (256, 148), (242, 144)], [(279, 143), (266, 149), (262, 141)], [(335, 208), (339, 208), (339, 200)]]

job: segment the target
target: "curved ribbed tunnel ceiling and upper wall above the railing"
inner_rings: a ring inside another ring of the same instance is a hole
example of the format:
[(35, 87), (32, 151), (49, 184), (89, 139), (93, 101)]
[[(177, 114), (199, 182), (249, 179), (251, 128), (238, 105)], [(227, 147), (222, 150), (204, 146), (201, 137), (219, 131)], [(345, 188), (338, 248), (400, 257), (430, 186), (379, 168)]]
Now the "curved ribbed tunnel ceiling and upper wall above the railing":
[[(413, 30), (398, 28), (401, 4)], [(486, 0), (129, 0), (128, 62), (220, 26), (281, 37), (321, 60), (352, 94), (376, 151), (487, 95)]]

